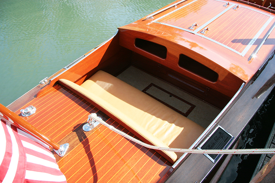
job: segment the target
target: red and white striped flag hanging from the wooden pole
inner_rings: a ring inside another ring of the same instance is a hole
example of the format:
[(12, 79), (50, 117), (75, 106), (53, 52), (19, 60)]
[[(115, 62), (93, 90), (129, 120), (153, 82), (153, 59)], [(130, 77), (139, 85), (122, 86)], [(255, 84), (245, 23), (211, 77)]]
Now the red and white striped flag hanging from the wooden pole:
[(0, 182), (67, 182), (49, 146), (2, 119)]

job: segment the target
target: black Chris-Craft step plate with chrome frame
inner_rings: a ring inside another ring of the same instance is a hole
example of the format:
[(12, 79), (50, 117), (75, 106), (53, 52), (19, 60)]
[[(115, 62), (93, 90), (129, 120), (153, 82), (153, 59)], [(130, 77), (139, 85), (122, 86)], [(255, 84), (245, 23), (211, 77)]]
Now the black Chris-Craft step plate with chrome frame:
[[(215, 130), (201, 143), (198, 149), (226, 149), (233, 136), (225, 131), (221, 126), (217, 126)], [(204, 154), (209, 160), (215, 163), (221, 154)]]

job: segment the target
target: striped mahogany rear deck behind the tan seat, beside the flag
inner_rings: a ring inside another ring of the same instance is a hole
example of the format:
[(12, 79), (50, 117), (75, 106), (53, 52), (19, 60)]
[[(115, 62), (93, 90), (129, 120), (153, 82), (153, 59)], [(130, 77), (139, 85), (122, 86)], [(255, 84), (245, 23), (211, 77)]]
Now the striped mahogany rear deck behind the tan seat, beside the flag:
[[(69, 143), (66, 156), (55, 154), (68, 182), (157, 182), (171, 164), (152, 149), (135, 144), (103, 125), (82, 131), (90, 113), (102, 116), (108, 124), (131, 134), (89, 102), (56, 85), (33, 99), (35, 114), (23, 117), (59, 144)], [(20, 115), (20, 111), (16, 111)], [(21, 116), (21, 115), (20, 115)]]

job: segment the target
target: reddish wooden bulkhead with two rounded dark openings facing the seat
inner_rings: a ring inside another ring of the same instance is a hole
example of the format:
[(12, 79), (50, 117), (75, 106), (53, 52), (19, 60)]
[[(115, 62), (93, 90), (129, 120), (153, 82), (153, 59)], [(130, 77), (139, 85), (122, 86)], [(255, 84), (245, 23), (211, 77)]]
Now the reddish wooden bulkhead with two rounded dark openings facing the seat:
[[(242, 84), (242, 80), (236, 76), (234, 76), (232, 73), (228, 72), (221, 66), (218, 66), (217, 64), (213, 63), (211, 60), (197, 54), (196, 52), (193, 52), (190, 49), (187, 49), (185, 47), (182, 47), (180, 45), (175, 44), (172, 41), (167, 41), (166, 39), (158, 38), (153, 35), (149, 34), (144, 34), (139, 31), (133, 31), (133, 30), (126, 30), (123, 28), (120, 29), (120, 45), (148, 58), (151, 59), (152, 61), (163, 65), (170, 70), (173, 70), (174, 72), (177, 72), (178, 74), (182, 75), (183, 77), (186, 78), (191, 78), (193, 81), (196, 81), (197, 83), (200, 83), (204, 86), (207, 86), (208, 88), (212, 88), (230, 98), (233, 97), (233, 95), (236, 93), (236, 91), (240, 88), (240, 85)], [(140, 38), (140, 39), (145, 39), (145, 40), (154, 40), (155, 43), (160, 44), (160, 45), (165, 45), (167, 48), (167, 57), (166, 59), (161, 59), (157, 56), (154, 56), (144, 50), (141, 50), (135, 46), (135, 39)], [(126, 41), (124, 41), (126, 40)], [(190, 44), (193, 44), (190, 42)], [(197, 47), (197, 49), (204, 49), (197, 45), (194, 42), (194, 47)], [(192, 72), (180, 67), (178, 65), (179, 62), (179, 56), (181, 54), (184, 54), (196, 61), (204, 61), (204, 65), (211, 68), (215, 72), (218, 73), (218, 81), (216, 82), (211, 82), (207, 81), (203, 77), (200, 77), (196, 74), (193, 74)], [(135, 59), (135, 57), (133, 57)], [(141, 59), (142, 62), (142, 59)], [(148, 63), (149, 64), (149, 63)], [(148, 65), (147, 64), (147, 65)], [(237, 68), (233, 68), (237, 69)]]

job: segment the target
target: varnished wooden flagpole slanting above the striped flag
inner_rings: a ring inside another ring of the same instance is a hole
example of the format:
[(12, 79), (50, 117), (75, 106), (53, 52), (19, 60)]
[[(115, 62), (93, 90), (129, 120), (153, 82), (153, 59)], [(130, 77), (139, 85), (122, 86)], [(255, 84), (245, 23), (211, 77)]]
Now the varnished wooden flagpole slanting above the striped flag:
[[(12, 112), (2, 104), (0, 104), (0, 112), (3, 114), (3, 117), (6, 120), (13, 122), (12, 124), (18, 127), (19, 129), (26, 131), (31, 134), (33, 137), (39, 139), (40, 141), (46, 143), (55, 150), (60, 148), (60, 145), (54, 142), (51, 138), (48, 138), (41, 131), (35, 128), (33, 125), (29, 124), (26, 120), (20, 118), (16, 113)], [(2, 116), (0, 116), (1, 118)]]

